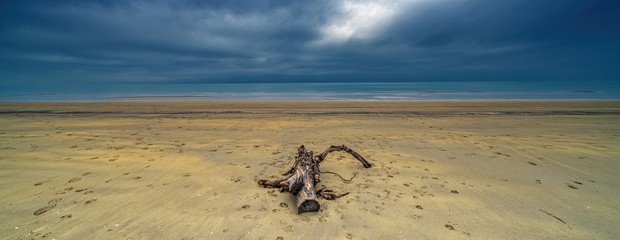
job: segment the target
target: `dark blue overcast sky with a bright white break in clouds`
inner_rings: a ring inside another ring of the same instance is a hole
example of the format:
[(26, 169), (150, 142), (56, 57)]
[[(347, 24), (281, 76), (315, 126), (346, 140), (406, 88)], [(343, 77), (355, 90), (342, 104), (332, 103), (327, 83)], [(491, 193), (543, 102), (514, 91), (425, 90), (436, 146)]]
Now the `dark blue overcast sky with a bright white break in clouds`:
[(620, 81), (619, 23), (617, 0), (3, 0), (0, 81)]

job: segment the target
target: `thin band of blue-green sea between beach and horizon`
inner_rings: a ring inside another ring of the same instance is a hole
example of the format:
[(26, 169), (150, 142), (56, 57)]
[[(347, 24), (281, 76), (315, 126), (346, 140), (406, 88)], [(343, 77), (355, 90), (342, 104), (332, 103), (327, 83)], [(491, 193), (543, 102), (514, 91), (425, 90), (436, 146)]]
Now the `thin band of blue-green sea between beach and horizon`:
[(485, 81), (0, 85), (0, 101), (597, 99), (620, 99), (620, 84)]

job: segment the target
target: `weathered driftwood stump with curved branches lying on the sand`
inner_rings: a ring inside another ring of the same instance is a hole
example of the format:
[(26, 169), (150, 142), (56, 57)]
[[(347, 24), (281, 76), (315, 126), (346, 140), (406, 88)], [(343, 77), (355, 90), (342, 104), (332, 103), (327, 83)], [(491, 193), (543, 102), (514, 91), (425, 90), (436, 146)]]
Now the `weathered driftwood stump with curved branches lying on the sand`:
[(297, 213), (317, 212), (320, 208), (319, 201), (317, 201), (317, 195), (327, 200), (333, 200), (349, 194), (348, 192), (336, 193), (325, 188), (319, 190), (315, 189), (315, 185), (321, 181), (321, 176), (319, 175), (321, 173), (319, 170), (319, 164), (325, 160), (327, 154), (333, 151), (348, 152), (359, 160), (364, 167), (371, 167), (370, 163), (368, 163), (366, 159), (344, 145), (330, 146), (325, 149), (323, 153), (316, 156), (313, 155), (312, 151), (306, 151), (306, 147), (301, 145), (297, 149), (295, 163), (291, 169), (283, 174), (283, 176), (287, 176), (286, 178), (281, 180), (261, 179), (258, 180), (258, 185), (266, 188), (279, 188), (280, 192), (290, 192), (293, 199), (297, 203)]

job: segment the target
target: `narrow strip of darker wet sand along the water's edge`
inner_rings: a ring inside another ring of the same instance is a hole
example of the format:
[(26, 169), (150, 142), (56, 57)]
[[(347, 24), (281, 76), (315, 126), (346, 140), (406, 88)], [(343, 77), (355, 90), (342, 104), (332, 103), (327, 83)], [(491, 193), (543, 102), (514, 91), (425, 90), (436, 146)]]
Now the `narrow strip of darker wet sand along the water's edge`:
[(0, 102), (4, 114), (618, 115), (620, 101)]

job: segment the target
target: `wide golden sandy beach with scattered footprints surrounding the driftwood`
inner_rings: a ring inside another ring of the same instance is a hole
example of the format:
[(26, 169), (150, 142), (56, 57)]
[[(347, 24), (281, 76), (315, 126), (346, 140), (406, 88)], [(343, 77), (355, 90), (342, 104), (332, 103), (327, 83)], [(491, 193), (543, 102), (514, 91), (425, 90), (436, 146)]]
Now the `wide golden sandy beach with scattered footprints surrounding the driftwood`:
[[(297, 147), (332, 153), (298, 215)], [(0, 103), (2, 239), (614, 239), (620, 102)]]

